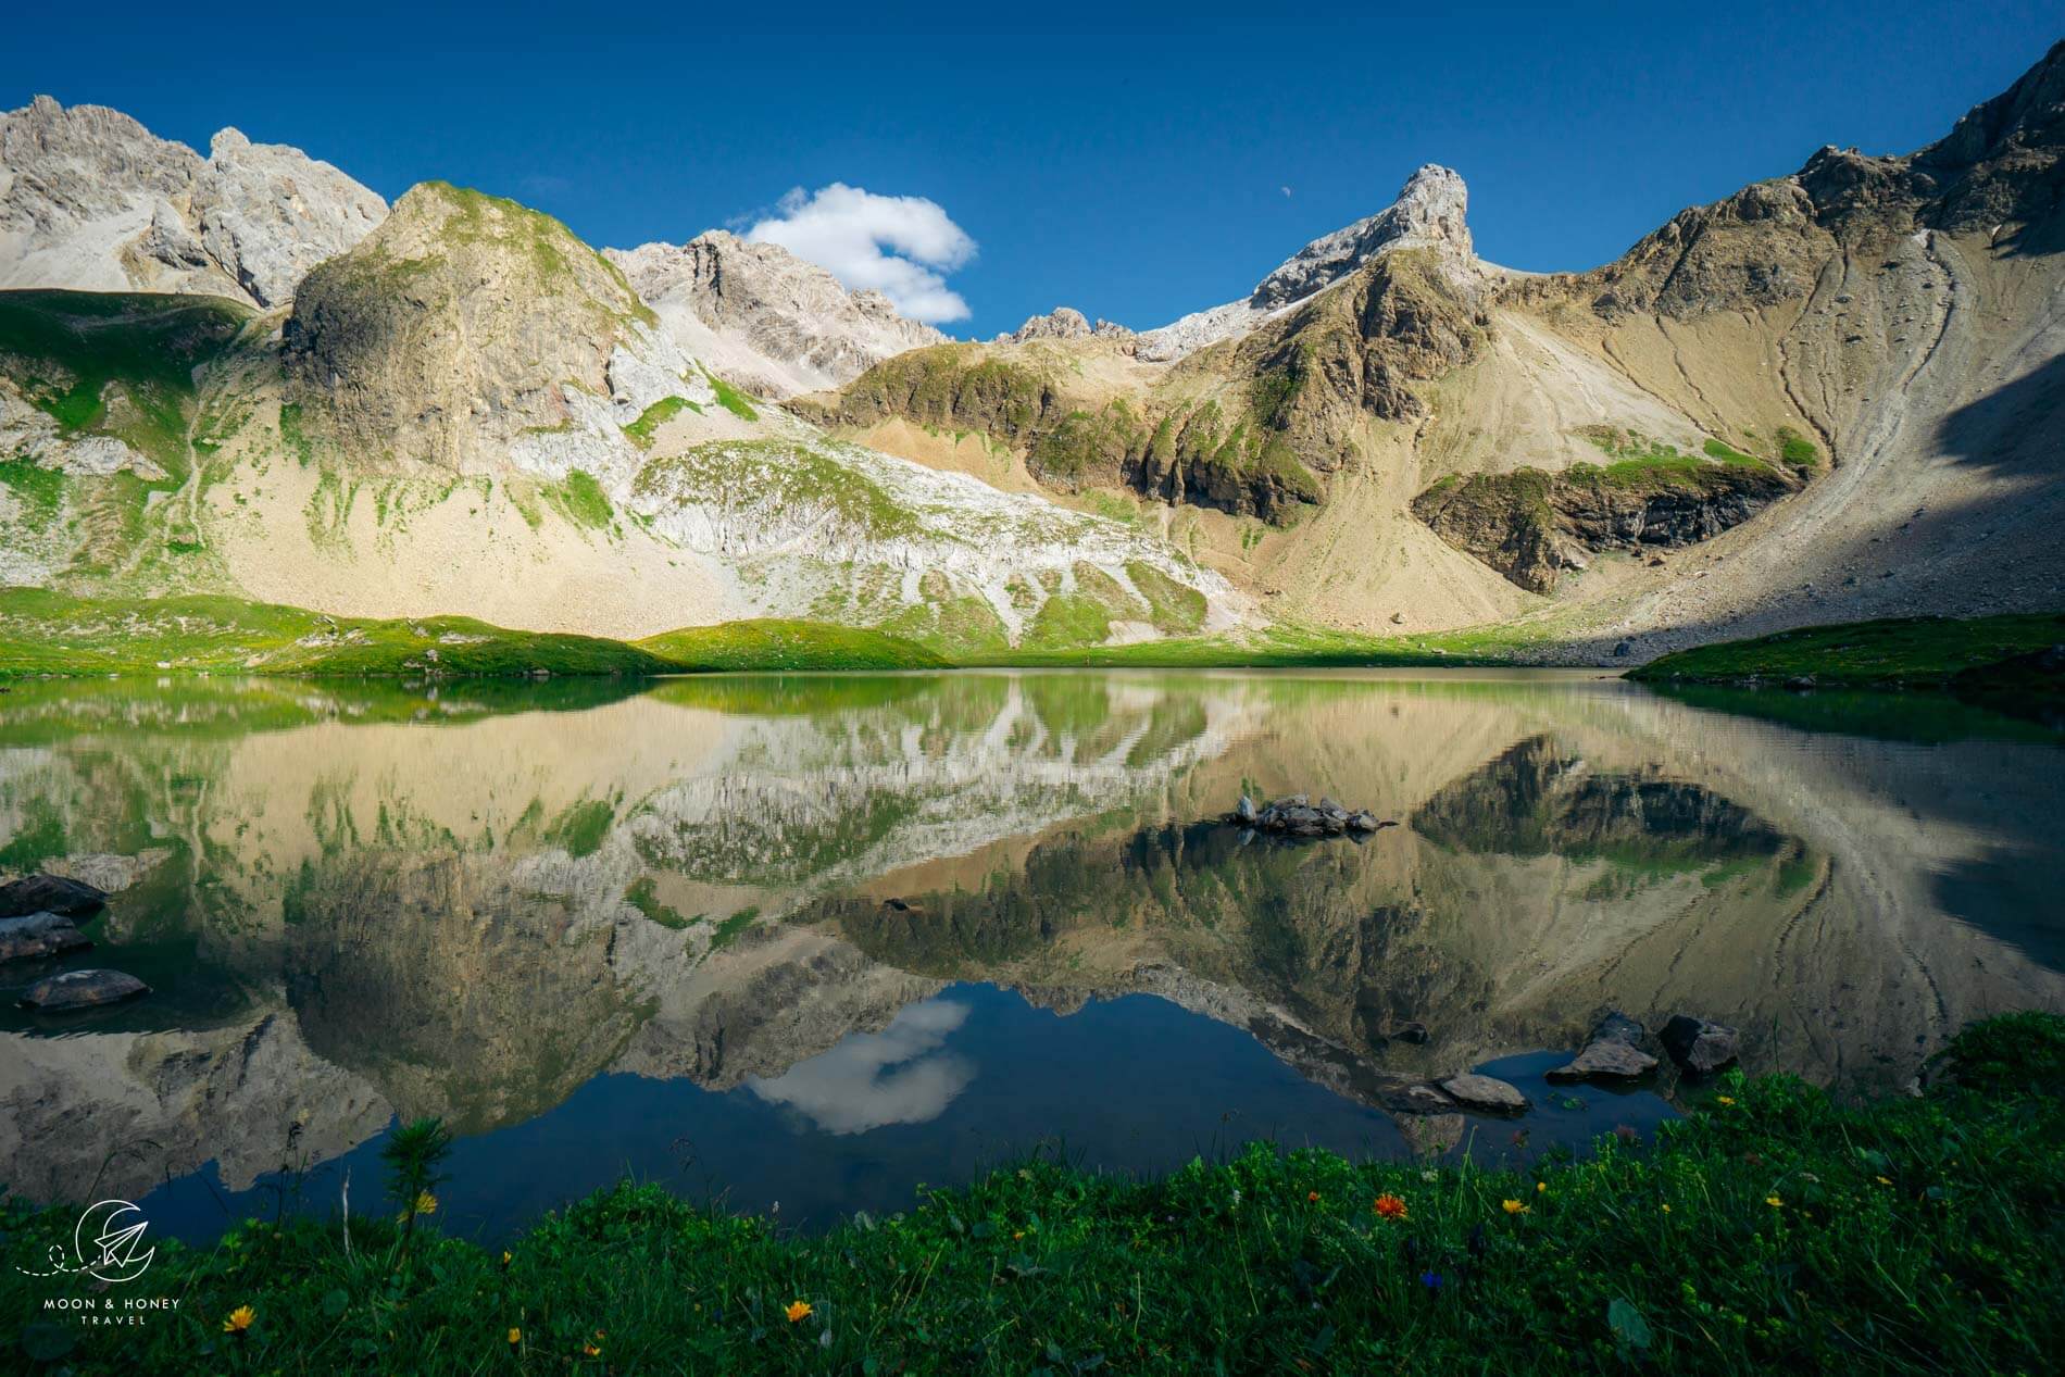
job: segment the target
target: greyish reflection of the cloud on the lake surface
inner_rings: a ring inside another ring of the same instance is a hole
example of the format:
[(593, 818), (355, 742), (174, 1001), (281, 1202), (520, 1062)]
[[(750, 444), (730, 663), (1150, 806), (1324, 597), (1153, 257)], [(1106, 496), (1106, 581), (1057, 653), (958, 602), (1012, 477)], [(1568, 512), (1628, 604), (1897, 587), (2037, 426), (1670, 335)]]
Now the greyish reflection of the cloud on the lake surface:
[(975, 1080), (975, 1067), (940, 1051), (968, 1018), (968, 1005), (925, 999), (882, 1032), (855, 1032), (832, 1051), (797, 1061), (772, 1080), (745, 1086), (787, 1104), (826, 1133), (865, 1133), (890, 1123), (929, 1123)]

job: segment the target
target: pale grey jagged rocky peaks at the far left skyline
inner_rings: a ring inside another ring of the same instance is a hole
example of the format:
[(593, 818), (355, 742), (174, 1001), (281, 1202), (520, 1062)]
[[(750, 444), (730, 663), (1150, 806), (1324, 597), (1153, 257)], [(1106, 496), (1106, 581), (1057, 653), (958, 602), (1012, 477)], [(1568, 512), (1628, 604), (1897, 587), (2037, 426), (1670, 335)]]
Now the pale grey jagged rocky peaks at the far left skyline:
[(215, 136), (202, 159), (101, 105), (0, 116), (0, 287), (188, 291), (281, 306), (386, 202), (285, 145)]

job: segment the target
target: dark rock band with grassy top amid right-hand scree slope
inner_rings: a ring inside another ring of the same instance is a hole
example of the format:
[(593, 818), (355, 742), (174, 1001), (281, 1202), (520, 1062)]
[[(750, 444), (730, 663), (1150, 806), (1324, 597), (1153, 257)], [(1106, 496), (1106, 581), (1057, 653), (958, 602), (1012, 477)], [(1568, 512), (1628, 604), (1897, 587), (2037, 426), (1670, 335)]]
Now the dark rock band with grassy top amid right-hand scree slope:
[(1739, 526), (1801, 479), (1764, 462), (1571, 465), (1443, 479), (1412, 500), (1435, 535), (1528, 593), (1609, 549), (1671, 549)]

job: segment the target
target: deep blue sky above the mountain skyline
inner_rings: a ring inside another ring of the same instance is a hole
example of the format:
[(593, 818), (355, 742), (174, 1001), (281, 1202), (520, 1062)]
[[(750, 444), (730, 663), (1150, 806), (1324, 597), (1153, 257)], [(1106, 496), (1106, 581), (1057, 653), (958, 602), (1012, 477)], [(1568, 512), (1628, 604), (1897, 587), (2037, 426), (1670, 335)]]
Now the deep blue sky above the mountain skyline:
[(1929, 142), (2065, 37), (2065, 0), (130, 8), (12, 14), (0, 107), (116, 105), (202, 151), (235, 124), (609, 246), (779, 217), (793, 188), (927, 198), (975, 246), (909, 239), (958, 264), (956, 334), (1243, 295), (1427, 161), (1468, 180), (1485, 258), (1594, 266), (1823, 142)]

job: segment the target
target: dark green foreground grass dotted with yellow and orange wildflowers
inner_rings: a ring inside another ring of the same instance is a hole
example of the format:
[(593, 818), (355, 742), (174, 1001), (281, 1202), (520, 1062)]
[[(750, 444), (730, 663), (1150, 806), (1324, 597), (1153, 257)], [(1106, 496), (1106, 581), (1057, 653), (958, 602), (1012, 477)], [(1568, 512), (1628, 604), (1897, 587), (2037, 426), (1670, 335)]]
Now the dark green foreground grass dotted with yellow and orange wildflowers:
[[(1974, 1024), (1912, 1098), (1788, 1076), (1526, 1175), (1251, 1148), (1156, 1181), (1032, 1160), (820, 1237), (622, 1183), (508, 1247), (399, 1220), (161, 1245), (145, 1327), (0, 1270), (74, 1373), (2036, 1373), (2065, 1352), (2065, 1020)], [(0, 1204), (14, 1261), (76, 1212)], [(74, 1294), (89, 1294), (83, 1286)]]

